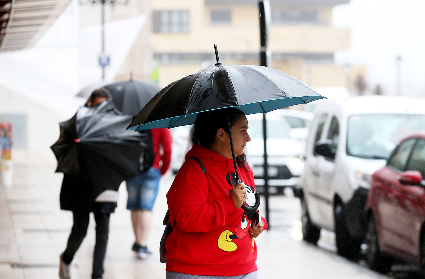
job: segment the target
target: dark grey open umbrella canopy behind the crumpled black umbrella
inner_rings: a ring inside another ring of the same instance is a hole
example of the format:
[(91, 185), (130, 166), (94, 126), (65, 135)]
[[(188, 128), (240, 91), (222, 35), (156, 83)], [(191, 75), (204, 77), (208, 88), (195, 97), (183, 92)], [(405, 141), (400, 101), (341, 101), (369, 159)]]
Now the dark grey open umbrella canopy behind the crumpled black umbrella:
[(126, 114), (136, 115), (147, 102), (161, 91), (161, 87), (151, 82), (130, 79), (104, 86), (112, 94), (115, 107)]

